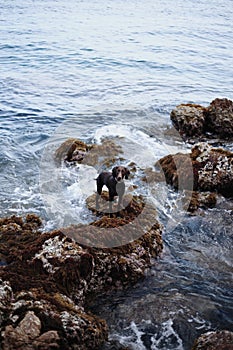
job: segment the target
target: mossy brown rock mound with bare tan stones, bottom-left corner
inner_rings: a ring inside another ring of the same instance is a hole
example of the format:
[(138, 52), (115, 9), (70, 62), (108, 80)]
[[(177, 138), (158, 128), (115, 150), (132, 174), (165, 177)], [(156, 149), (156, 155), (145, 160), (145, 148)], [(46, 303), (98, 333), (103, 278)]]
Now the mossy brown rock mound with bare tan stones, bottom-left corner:
[(105, 321), (61, 293), (16, 292), (10, 311), (1, 332), (3, 350), (96, 349), (107, 338)]

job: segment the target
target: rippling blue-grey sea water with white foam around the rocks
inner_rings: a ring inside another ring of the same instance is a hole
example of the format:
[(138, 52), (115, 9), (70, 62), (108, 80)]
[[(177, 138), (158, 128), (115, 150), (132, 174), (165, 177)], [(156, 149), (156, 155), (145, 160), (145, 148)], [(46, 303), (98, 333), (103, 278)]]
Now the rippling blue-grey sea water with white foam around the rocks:
[[(140, 169), (189, 151), (169, 115), (233, 100), (232, 19), (229, 0), (1, 1), (1, 217), (33, 212), (44, 230), (93, 220), (85, 199), (99, 169), (49, 167), (68, 137), (120, 142)], [(190, 216), (167, 186), (149, 194), (164, 253), (143, 281), (92, 306), (109, 325), (104, 349), (190, 350), (201, 333), (233, 331), (232, 201)]]

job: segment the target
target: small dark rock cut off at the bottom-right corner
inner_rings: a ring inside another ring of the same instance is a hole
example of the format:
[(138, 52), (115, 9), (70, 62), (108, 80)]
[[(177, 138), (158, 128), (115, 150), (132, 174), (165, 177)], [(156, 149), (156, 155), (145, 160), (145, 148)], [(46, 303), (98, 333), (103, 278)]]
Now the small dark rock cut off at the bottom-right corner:
[(233, 332), (205, 333), (196, 340), (192, 350), (233, 350)]

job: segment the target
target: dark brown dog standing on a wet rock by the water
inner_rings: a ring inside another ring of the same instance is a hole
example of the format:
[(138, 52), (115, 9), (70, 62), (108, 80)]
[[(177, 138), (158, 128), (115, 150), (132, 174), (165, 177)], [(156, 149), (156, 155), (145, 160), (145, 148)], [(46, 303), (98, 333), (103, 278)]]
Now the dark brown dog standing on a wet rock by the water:
[(120, 211), (123, 195), (125, 193), (124, 178), (127, 180), (130, 171), (123, 166), (115, 166), (112, 172), (103, 171), (96, 179), (97, 195), (96, 195), (96, 210), (99, 209), (99, 198), (102, 193), (103, 186), (107, 186), (109, 191), (109, 213), (112, 214), (112, 202), (115, 196), (118, 196), (117, 211)]

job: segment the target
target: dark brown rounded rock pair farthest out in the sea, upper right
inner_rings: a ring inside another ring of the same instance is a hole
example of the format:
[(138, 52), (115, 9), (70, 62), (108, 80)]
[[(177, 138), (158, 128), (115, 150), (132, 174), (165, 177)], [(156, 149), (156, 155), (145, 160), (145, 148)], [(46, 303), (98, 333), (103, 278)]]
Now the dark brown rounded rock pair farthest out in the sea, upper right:
[(226, 98), (216, 98), (208, 107), (180, 104), (170, 117), (185, 140), (233, 139), (233, 102)]

